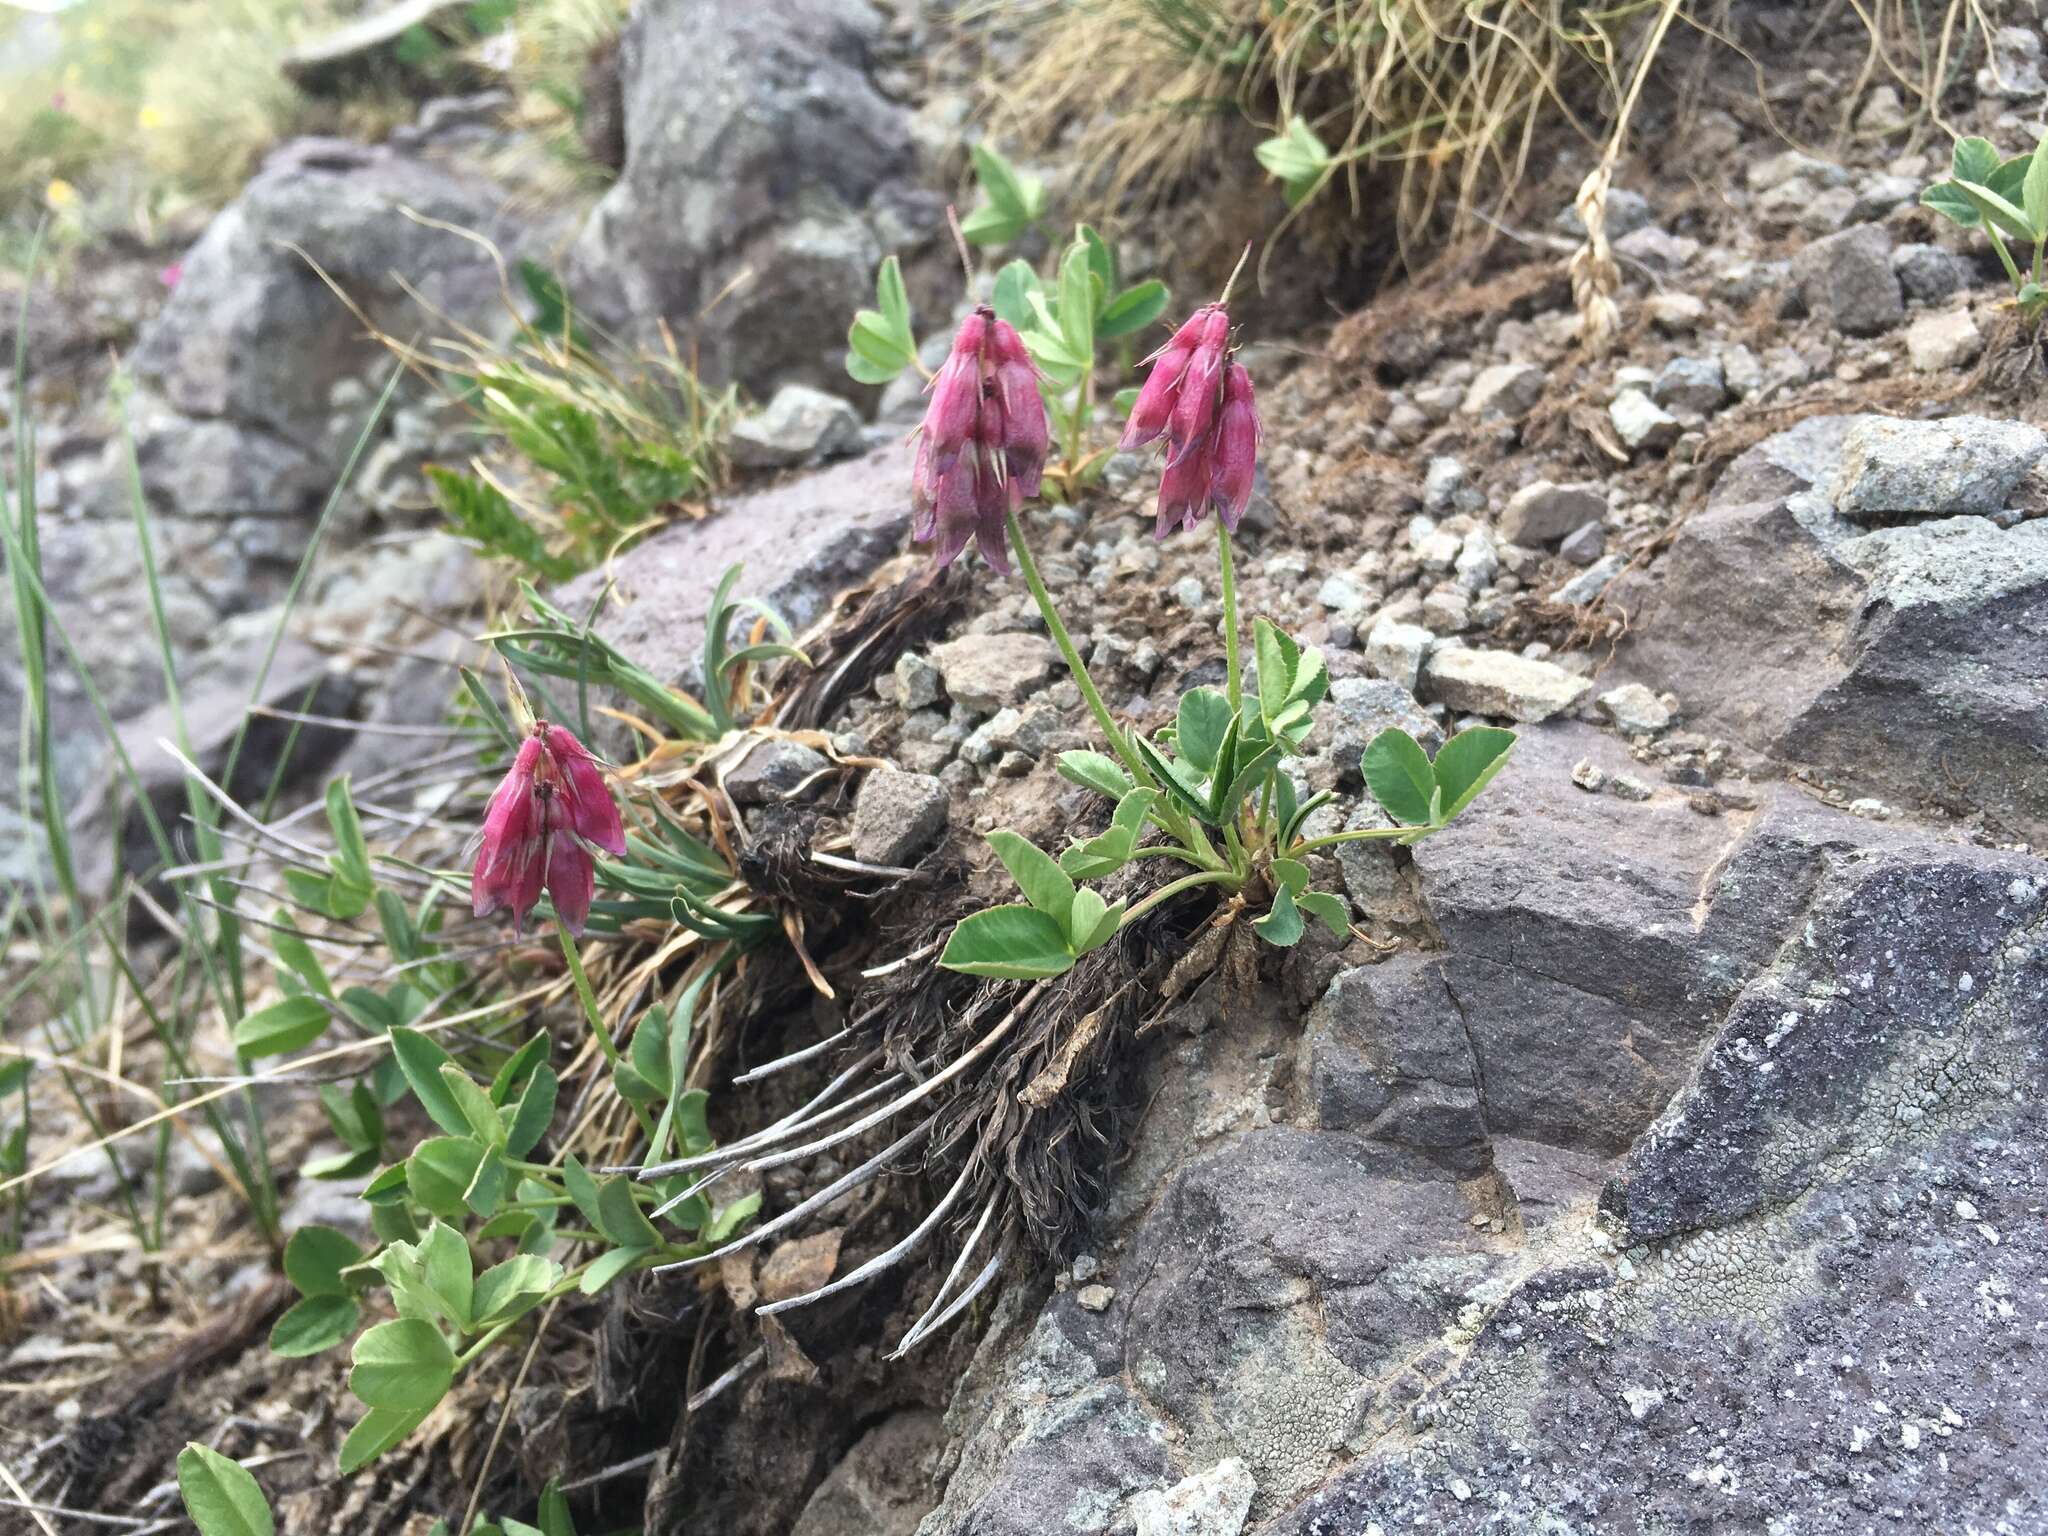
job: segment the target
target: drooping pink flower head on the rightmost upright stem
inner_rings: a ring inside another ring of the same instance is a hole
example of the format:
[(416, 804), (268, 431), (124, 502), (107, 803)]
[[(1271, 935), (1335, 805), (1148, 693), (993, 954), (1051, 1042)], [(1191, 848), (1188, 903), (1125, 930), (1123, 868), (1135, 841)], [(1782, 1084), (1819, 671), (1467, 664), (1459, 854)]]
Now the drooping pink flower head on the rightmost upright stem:
[(1229, 311), (1202, 305), (1149, 362), (1120, 446), (1167, 440), (1155, 535), (1192, 528), (1208, 508), (1237, 532), (1257, 475), (1260, 412), (1251, 375), (1231, 360)]

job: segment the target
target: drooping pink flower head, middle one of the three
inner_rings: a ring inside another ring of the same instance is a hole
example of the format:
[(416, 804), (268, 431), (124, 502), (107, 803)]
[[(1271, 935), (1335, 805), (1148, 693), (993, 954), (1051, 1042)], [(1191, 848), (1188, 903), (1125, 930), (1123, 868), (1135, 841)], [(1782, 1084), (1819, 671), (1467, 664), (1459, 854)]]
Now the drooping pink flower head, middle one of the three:
[(950, 565), (969, 541), (1010, 571), (1004, 522), (1038, 494), (1051, 428), (1038, 369), (1016, 328), (981, 305), (961, 322), (930, 385), (911, 465), (911, 539)]

